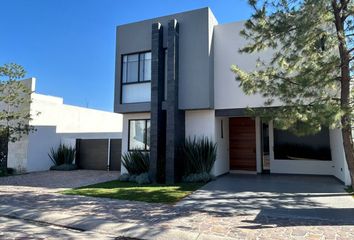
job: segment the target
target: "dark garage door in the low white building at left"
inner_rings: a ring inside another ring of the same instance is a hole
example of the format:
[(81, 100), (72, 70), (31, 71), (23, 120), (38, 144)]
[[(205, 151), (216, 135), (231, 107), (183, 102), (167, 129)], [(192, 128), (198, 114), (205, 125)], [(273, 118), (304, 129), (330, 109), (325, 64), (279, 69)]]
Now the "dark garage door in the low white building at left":
[(78, 139), (76, 141), (77, 164), (81, 169), (107, 170), (108, 151), (109, 170), (120, 170), (121, 139)]

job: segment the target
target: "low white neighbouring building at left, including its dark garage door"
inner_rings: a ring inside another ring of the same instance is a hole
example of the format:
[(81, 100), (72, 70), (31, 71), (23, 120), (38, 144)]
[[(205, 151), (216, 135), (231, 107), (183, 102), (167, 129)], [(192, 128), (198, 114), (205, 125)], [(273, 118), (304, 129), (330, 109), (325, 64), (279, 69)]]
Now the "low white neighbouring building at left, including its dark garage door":
[(16, 172), (48, 170), (48, 153), (60, 143), (76, 147), (80, 168), (120, 170), (122, 115), (71, 106), (59, 97), (35, 92), (36, 79), (22, 80), (31, 91), (29, 125), (35, 131), (8, 144), (7, 165)]

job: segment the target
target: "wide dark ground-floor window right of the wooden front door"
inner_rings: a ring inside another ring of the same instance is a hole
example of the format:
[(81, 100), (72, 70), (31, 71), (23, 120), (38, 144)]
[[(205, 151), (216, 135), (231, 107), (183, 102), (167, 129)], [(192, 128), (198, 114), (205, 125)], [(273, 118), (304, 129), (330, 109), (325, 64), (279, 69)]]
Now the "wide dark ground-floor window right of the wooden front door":
[(296, 136), (289, 131), (274, 129), (274, 158), (330, 161), (332, 158), (328, 128), (307, 136)]

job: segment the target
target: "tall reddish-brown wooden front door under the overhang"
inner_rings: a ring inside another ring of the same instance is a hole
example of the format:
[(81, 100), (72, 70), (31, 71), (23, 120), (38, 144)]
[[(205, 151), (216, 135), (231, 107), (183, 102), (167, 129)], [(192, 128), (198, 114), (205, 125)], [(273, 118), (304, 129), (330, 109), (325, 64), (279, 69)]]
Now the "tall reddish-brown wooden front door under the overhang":
[(229, 120), (230, 170), (256, 171), (255, 121), (248, 117)]

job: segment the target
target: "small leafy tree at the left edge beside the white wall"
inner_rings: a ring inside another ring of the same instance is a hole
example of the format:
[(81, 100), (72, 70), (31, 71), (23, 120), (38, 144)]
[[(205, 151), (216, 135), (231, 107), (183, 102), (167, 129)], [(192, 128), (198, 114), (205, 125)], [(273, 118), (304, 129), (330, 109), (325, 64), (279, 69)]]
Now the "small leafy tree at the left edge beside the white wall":
[(0, 173), (6, 172), (8, 143), (16, 142), (33, 130), (29, 104), (31, 89), (17, 81), (25, 76), (22, 66), (0, 66)]

